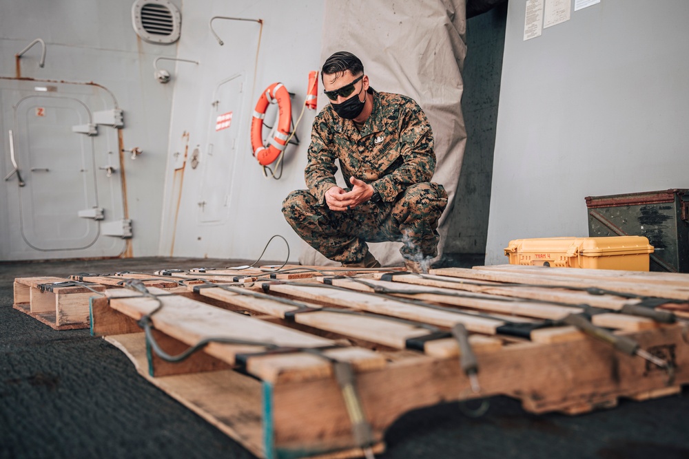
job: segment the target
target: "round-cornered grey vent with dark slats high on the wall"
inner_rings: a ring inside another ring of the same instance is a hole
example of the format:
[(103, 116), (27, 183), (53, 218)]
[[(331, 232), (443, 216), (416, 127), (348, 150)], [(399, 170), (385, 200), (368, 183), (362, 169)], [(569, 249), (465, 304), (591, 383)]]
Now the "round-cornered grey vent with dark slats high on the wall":
[(169, 0), (137, 0), (132, 6), (134, 31), (148, 43), (167, 45), (179, 39), (182, 17)]

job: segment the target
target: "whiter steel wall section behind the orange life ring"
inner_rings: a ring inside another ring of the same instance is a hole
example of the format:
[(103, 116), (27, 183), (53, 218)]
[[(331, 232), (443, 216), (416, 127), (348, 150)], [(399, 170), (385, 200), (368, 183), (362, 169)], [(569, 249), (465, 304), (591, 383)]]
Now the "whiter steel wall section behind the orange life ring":
[[(186, 2), (182, 16), (178, 57), (199, 64), (173, 66), (175, 92), (159, 253), (256, 259), (270, 237), (280, 234), (289, 241), (290, 259), (296, 261), (303, 242), (280, 209), (287, 193), (305, 188), (303, 171), (316, 111), (307, 109), (303, 115), (297, 130), (301, 144), (287, 148), (280, 180), (263, 176), (251, 155), (249, 127), (258, 96), (275, 82), (294, 93), (292, 114), (295, 120), (299, 116), (309, 71), (320, 68), (322, 2), (199, 0)], [(215, 16), (261, 19), (263, 30), (255, 21), (216, 19), (213, 29), (225, 43), (220, 46), (209, 28)], [(237, 75), (241, 87), (220, 89), (218, 100), (218, 85)], [(322, 93), (320, 81), (318, 92)], [(215, 100), (225, 104), (222, 113), (214, 107)], [(216, 116), (229, 111), (232, 128), (216, 132)], [(272, 125), (272, 116), (266, 121)], [(235, 128), (236, 140), (229, 141), (225, 134)], [(212, 190), (209, 180), (214, 181)], [(286, 256), (285, 244), (278, 239), (264, 259)]]

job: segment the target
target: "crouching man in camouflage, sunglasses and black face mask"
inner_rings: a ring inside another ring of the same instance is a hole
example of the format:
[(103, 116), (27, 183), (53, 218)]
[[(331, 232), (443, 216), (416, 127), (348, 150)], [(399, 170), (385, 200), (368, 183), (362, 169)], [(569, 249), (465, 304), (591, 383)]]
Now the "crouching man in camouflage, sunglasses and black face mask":
[[(447, 205), (435, 171), (433, 132), (407, 96), (376, 92), (358, 57), (336, 52), (321, 79), (331, 101), (313, 120), (308, 190), (290, 193), (282, 213), (294, 231), (345, 267), (378, 268), (367, 242), (402, 241), (407, 270), (426, 273), (438, 255)], [(340, 170), (351, 188), (337, 185)]]

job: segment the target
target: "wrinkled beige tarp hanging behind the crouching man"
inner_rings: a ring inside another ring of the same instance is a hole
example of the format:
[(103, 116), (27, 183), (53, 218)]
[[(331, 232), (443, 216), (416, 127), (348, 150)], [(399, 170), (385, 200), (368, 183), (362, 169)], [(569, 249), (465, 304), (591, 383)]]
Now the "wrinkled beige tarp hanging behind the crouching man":
[[(328, 0), (321, 50), (321, 63), (333, 52), (353, 52), (364, 64), (373, 89), (410, 96), (426, 112), (438, 159), (433, 181), (442, 184), (449, 197), (438, 229), (440, 257), (466, 145), (460, 105), (466, 56), (465, 1)], [(327, 99), (318, 100), (320, 110)], [(400, 245), (369, 243), (371, 253), (384, 266), (402, 264)], [(333, 264), (308, 246), (299, 260), (302, 264)]]

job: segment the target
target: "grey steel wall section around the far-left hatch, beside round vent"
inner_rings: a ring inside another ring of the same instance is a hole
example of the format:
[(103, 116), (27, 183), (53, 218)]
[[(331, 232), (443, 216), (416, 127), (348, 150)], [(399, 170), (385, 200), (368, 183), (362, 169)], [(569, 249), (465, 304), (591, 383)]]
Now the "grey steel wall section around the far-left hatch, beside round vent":
[[(175, 56), (177, 45), (138, 39), (132, 28), (132, 3), (0, 0), (0, 76), (17, 76), (14, 55), (41, 38), (47, 45), (45, 67), (38, 65), (41, 47), (36, 45), (21, 57), (21, 76), (94, 82), (114, 94), (124, 111), (123, 147), (143, 150), (136, 160), (127, 158), (125, 172), (134, 231), (130, 255), (146, 256), (158, 254), (174, 92), (173, 85), (154, 80), (152, 63), (157, 56)], [(6, 153), (4, 142), (2, 151)], [(0, 244), (5, 241), (3, 231)]]

